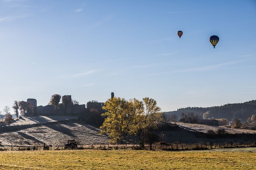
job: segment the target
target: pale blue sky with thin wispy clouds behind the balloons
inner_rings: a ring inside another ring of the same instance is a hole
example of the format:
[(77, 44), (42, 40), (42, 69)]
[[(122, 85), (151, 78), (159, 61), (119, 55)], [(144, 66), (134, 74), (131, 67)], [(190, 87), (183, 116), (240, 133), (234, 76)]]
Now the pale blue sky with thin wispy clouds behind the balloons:
[(162, 111), (255, 100), (255, 32), (255, 0), (0, 0), (0, 110), (53, 94)]

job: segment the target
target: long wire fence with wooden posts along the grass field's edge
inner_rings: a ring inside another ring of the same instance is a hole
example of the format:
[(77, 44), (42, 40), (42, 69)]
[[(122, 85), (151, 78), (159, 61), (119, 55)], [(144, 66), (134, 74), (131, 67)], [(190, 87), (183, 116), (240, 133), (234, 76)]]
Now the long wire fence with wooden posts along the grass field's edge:
[(65, 147), (44, 144), (43, 146), (31, 146), (31, 147), (10, 147), (0, 148), (0, 151), (38, 151), (38, 150), (113, 150), (113, 149), (132, 149), (132, 150), (155, 150), (155, 151), (185, 151), (185, 150), (210, 150), (210, 149), (223, 149), (223, 148), (245, 148), (256, 147), (256, 142), (224, 142), (224, 143), (212, 143), (212, 142), (199, 142), (199, 143), (166, 143), (158, 142), (144, 145), (142, 147), (138, 144), (126, 144), (126, 145), (112, 145), (112, 144), (91, 144), (91, 145), (78, 145), (77, 147)]

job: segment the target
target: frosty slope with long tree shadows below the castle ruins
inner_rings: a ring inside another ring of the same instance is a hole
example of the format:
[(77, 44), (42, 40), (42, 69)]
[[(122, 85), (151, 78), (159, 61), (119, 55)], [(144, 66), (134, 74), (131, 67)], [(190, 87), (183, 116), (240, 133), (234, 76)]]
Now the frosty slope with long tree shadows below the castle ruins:
[[(99, 135), (100, 129), (76, 120), (56, 124), (41, 125), (17, 132), (0, 133), (3, 147), (19, 146), (62, 146), (68, 139), (76, 139), (81, 145), (107, 143), (108, 137)], [(25, 144), (25, 141), (28, 144)]]

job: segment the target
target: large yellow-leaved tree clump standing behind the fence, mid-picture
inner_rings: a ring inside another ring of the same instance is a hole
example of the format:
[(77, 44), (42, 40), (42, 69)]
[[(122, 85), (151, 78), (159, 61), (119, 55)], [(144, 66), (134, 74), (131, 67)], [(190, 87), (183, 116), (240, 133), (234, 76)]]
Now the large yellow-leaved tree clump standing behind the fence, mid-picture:
[(127, 134), (134, 134), (143, 146), (145, 136), (157, 128), (162, 113), (154, 99), (147, 97), (142, 100), (108, 99), (102, 107), (107, 112), (102, 114), (106, 118), (100, 127), (100, 134), (108, 134), (112, 143), (122, 143)]

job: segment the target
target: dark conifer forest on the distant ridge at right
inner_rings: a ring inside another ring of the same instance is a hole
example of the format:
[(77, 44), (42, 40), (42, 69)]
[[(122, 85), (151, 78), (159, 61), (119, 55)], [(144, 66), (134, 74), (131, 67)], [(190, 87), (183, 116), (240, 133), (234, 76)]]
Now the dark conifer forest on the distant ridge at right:
[(198, 114), (199, 119), (203, 119), (203, 115), (206, 115), (207, 113), (207, 116), (210, 119), (226, 118), (228, 121), (234, 121), (235, 118), (238, 118), (241, 122), (246, 122), (248, 117), (256, 114), (256, 100), (213, 107), (186, 107), (180, 108), (177, 111), (165, 113), (177, 115), (180, 118), (181, 113), (188, 114), (192, 112)]

